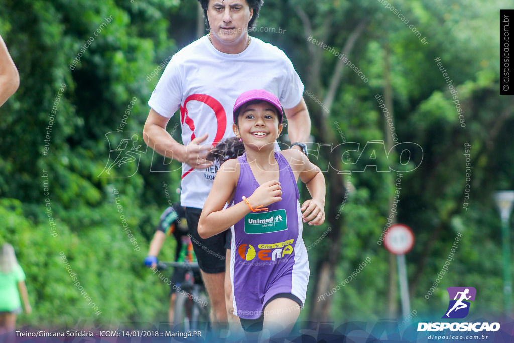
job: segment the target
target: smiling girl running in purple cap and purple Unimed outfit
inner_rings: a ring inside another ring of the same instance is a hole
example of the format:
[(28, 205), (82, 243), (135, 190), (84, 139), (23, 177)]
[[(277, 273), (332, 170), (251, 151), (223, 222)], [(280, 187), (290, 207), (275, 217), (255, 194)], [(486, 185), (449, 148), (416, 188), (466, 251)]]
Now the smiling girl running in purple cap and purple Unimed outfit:
[[(227, 154), (246, 152), (218, 170), (198, 233), (207, 238), (232, 230), (233, 305), (243, 329), (287, 334), (300, 315), (309, 277), (302, 223), (324, 222), (325, 179), (302, 152), (275, 150), (282, 109), (271, 93), (254, 90), (237, 98), (233, 130), (237, 138), (225, 143)], [(217, 159), (225, 157), (218, 151)], [(298, 178), (312, 197), (301, 207)]]

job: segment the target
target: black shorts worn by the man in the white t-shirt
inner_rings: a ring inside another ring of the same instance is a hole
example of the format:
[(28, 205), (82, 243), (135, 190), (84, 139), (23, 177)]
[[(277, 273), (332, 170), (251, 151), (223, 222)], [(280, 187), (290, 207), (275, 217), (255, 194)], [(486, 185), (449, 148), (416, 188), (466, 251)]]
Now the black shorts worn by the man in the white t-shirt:
[(227, 233), (220, 232), (206, 239), (201, 238), (198, 234), (200, 214), (201, 208), (186, 207), (186, 220), (198, 266), (205, 273), (223, 273), (225, 272), (225, 257), (227, 255), (227, 249), (225, 248)]

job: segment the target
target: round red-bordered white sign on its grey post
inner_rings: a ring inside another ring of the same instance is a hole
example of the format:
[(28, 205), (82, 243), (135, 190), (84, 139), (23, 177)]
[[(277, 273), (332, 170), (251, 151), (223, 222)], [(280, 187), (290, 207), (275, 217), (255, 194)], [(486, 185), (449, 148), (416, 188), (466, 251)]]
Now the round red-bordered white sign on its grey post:
[(401, 313), (403, 317), (407, 318), (411, 312), (411, 305), (409, 302), (405, 254), (412, 249), (412, 246), (414, 245), (414, 234), (411, 229), (405, 225), (393, 225), (386, 231), (384, 245), (391, 254), (396, 255), (396, 262), (398, 264), (398, 282), (400, 284)]

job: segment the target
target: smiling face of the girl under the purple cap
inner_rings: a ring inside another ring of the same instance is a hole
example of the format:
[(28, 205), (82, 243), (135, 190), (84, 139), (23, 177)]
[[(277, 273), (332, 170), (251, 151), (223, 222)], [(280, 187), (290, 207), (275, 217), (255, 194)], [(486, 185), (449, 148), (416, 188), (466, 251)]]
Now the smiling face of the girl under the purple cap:
[(233, 125), (235, 135), (259, 150), (269, 143), (273, 148), (282, 132), (277, 109), (266, 101), (245, 105), (237, 119)]

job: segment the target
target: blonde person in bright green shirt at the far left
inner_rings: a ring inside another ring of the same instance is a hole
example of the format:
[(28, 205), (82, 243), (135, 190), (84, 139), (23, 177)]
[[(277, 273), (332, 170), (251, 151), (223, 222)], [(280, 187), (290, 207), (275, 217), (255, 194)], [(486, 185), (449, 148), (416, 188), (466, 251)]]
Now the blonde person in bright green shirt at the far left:
[(12, 245), (4, 243), (0, 248), (0, 336), (14, 332), (16, 315), (22, 312), (20, 297), (25, 312), (30, 314), (32, 309), (25, 286), (25, 273), (16, 260)]

